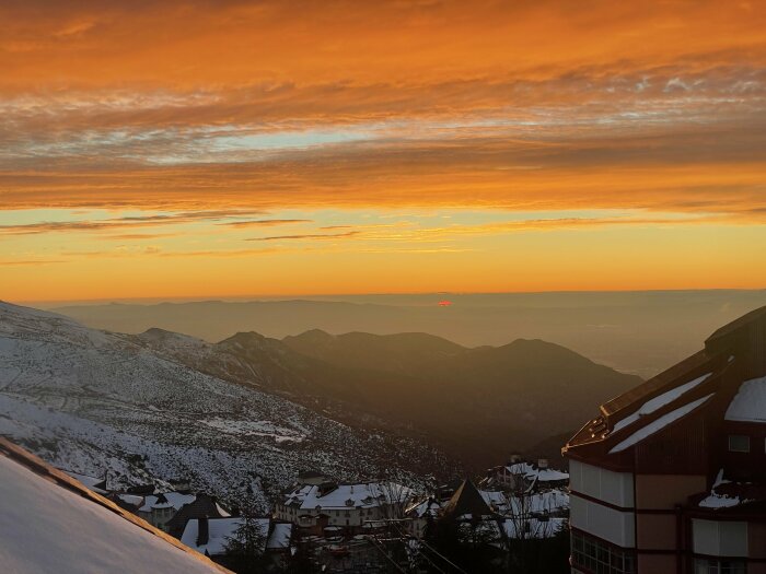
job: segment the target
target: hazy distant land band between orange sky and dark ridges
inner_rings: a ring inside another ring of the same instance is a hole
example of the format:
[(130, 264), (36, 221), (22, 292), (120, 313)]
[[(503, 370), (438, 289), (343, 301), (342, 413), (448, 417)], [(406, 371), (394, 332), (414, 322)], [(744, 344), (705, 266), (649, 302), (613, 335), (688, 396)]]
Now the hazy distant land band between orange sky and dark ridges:
[[(449, 298), (453, 304), (440, 307)], [(764, 290), (336, 295), (307, 300), (69, 305), (85, 325), (140, 333), (150, 327), (206, 341), (256, 331), (281, 339), (328, 333), (428, 332), (465, 347), (542, 339), (643, 378), (697, 350), (701, 339), (752, 308)]]

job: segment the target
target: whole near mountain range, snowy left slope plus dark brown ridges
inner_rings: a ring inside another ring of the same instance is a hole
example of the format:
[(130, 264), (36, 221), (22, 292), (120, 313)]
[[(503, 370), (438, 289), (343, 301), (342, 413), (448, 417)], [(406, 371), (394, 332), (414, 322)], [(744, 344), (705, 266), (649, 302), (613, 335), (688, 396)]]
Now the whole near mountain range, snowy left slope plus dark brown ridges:
[(223, 496), (266, 500), (305, 468), (413, 481), (501, 461), (639, 382), (539, 340), (314, 329), (211, 343), (0, 304), (0, 434), (79, 472), (188, 476)]

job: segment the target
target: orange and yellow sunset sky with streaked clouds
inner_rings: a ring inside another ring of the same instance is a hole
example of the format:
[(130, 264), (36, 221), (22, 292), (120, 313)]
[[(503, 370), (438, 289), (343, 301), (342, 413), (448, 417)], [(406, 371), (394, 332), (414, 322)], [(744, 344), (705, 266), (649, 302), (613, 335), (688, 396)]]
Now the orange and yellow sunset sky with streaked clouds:
[(4, 1), (0, 298), (766, 286), (766, 2)]

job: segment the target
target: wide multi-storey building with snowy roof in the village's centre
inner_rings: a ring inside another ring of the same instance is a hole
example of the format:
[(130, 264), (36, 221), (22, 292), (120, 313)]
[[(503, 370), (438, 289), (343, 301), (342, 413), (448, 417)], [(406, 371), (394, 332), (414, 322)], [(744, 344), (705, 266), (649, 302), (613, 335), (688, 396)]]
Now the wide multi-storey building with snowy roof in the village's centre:
[(402, 516), (411, 494), (394, 482), (298, 484), (277, 503), (275, 518), (316, 536), (326, 528), (359, 534), (375, 522)]

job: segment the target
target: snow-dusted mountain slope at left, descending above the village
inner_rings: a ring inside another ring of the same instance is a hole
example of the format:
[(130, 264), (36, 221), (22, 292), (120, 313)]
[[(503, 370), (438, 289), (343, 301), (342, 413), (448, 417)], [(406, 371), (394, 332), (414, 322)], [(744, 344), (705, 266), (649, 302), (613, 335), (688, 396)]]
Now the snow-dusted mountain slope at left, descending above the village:
[(222, 497), (249, 484), (265, 500), (306, 468), (413, 479), (407, 469), (442, 462), (411, 438), (205, 374), (189, 356), (208, 352), (176, 333), (98, 331), (0, 302), (0, 435), (61, 468), (121, 483), (189, 477)]

